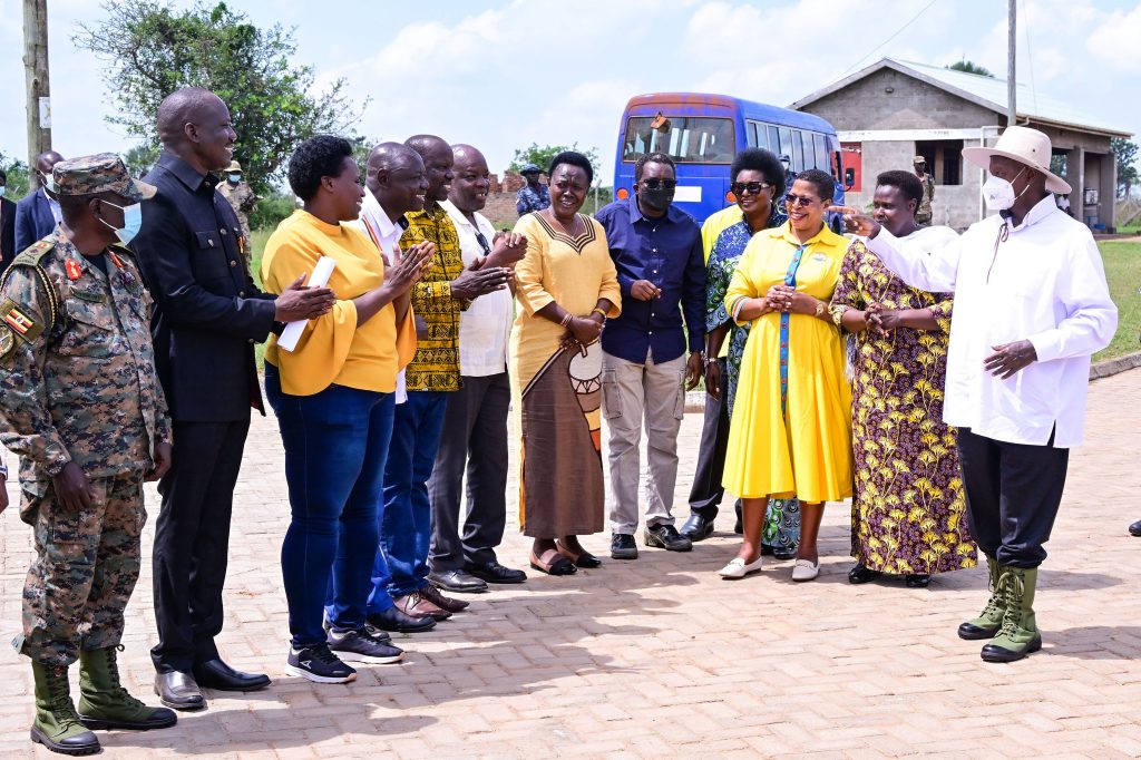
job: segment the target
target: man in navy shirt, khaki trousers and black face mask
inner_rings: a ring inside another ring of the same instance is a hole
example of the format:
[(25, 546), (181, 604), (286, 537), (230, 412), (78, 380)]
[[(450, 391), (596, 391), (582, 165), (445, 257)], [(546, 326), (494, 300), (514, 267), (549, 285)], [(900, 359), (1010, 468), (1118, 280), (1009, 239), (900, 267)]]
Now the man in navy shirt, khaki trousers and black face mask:
[(609, 428), (610, 556), (615, 559), (638, 557), (633, 533), (644, 415), (649, 444), (646, 545), (671, 551), (693, 548), (673, 527), (671, 509), (686, 390), (695, 388), (702, 375), (705, 259), (697, 223), (672, 205), (677, 185), (673, 160), (664, 153), (648, 153), (634, 164), (633, 196), (597, 215), (622, 288), (622, 316), (602, 331), (602, 412)]

